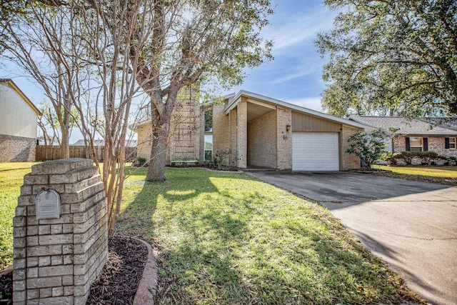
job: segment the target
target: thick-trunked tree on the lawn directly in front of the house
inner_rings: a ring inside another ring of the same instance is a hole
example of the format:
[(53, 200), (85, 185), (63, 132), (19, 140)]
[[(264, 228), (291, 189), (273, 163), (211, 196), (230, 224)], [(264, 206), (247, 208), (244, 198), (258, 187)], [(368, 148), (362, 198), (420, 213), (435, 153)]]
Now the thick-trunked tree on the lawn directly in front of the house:
[(261, 37), (272, 13), (269, 0), (154, 0), (149, 44), (136, 47), (136, 80), (151, 98), (152, 149), (146, 180), (165, 180), (171, 113), (181, 88), (216, 80), (241, 84), (243, 69), (271, 59)]

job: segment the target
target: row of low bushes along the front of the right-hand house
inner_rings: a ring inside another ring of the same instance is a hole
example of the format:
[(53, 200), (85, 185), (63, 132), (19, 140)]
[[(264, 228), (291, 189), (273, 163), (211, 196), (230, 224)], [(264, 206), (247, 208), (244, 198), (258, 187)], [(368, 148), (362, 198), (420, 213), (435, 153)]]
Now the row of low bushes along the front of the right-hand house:
[(388, 165), (456, 165), (456, 158), (440, 156), (435, 151), (401, 151), (386, 156)]

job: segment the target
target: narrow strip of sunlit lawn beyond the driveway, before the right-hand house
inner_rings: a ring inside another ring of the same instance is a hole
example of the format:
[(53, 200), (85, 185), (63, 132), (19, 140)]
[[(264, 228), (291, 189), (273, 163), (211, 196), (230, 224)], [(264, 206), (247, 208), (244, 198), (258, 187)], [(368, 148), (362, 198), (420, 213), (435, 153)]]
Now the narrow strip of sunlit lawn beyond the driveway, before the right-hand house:
[(426, 181), (438, 184), (457, 185), (457, 166), (373, 166), (374, 169), (389, 171), (382, 176)]

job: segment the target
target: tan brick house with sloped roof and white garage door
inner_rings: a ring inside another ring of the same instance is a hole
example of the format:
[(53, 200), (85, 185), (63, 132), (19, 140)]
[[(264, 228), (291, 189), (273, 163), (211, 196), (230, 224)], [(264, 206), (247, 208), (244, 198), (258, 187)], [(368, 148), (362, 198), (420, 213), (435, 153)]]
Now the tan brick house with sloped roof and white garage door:
[[(248, 91), (226, 96), (224, 104), (199, 106), (193, 99), (184, 99), (174, 111), (167, 164), (203, 163), (205, 156), (224, 154), (227, 164), (240, 169), (358, 169), (360, 159), (346, 152), (348, 138), (372, 130), (366, 124)], [(151, 124), (138, 124), (136, 131), (138, 156), (149, 159)]]

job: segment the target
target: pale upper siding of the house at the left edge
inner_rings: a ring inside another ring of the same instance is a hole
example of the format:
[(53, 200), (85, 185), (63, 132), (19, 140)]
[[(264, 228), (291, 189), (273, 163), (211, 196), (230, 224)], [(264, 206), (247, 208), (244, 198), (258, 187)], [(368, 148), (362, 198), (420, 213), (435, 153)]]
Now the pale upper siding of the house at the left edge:
[(36, 139), (36, 112), (6, 83), (0, 84), (0, 134)]

